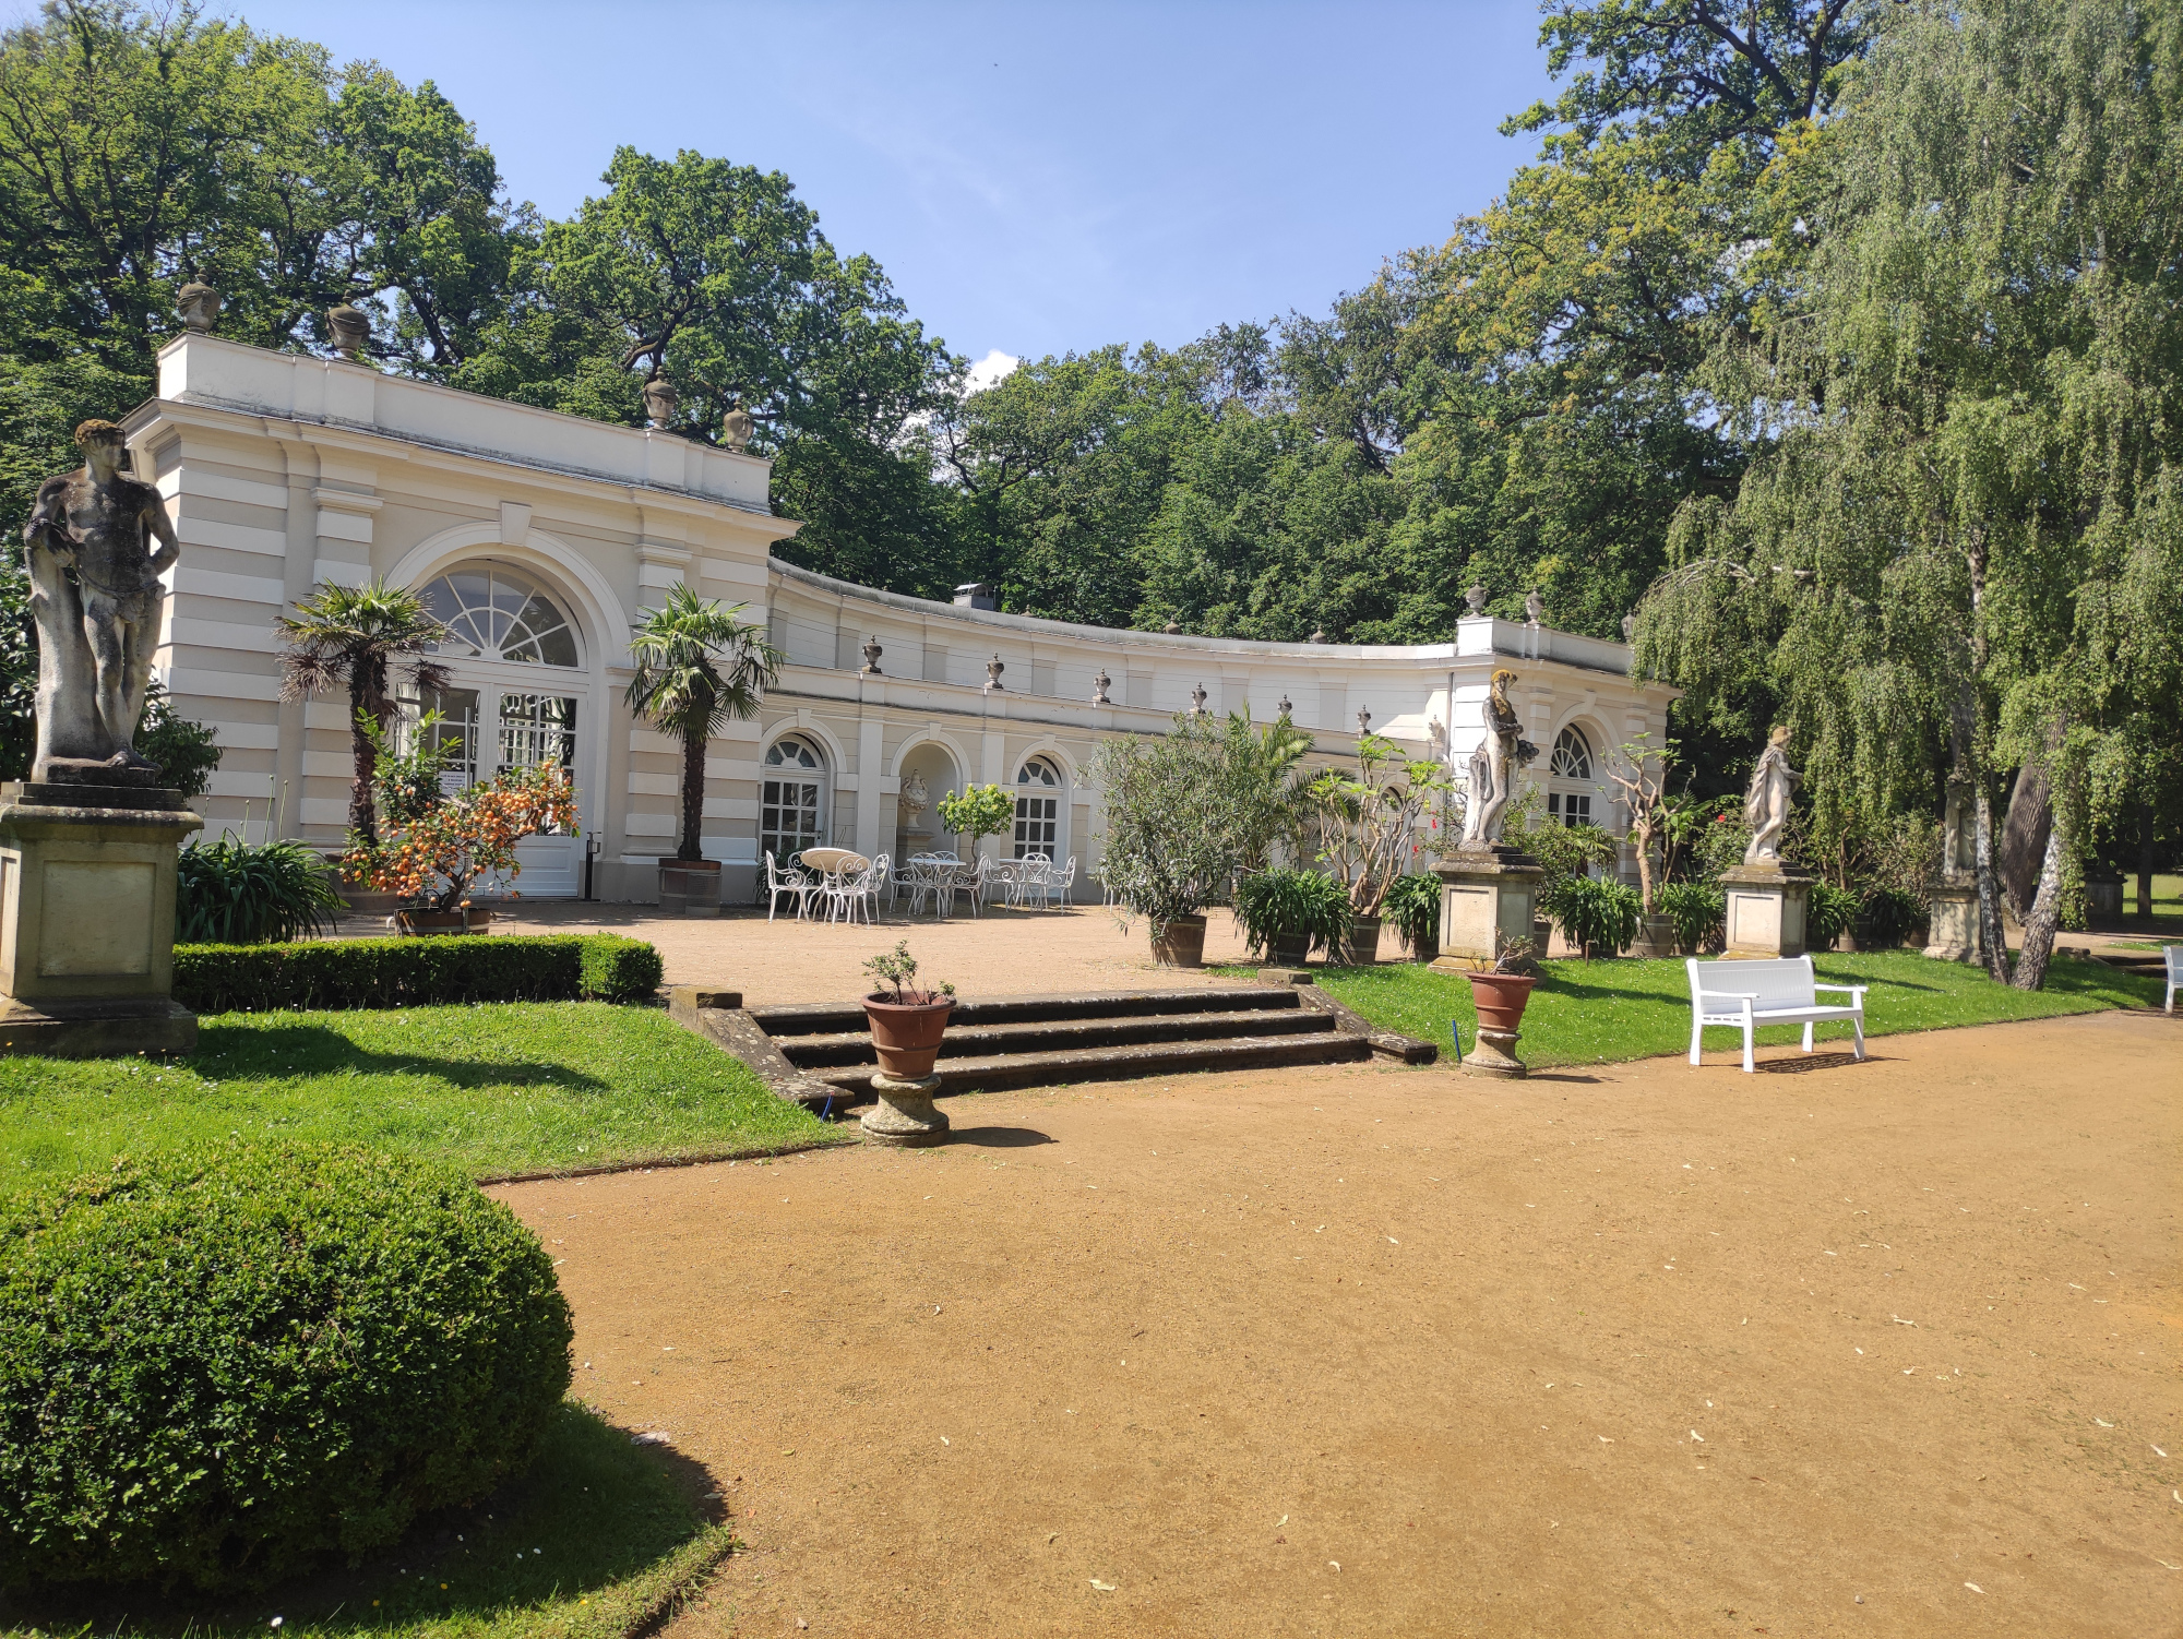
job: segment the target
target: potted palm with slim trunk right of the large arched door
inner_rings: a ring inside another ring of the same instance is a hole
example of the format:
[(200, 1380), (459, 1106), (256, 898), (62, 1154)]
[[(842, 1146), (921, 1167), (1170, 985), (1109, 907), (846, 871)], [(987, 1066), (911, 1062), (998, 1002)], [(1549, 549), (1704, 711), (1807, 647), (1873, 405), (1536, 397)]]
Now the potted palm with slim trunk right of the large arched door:
[(659, 862), (659, 904), (690, 914), (720, 912), (720, 862), (705, 858), (705, 746), (729, 722), (758, 716), (764, 692), (779, 679), (782, 653), (747, 605), (723, 605), (675, 585), (646, 609), (629, 639), (637, 674), (629, 709), (681, 740), (681, 836), (675, 858)]

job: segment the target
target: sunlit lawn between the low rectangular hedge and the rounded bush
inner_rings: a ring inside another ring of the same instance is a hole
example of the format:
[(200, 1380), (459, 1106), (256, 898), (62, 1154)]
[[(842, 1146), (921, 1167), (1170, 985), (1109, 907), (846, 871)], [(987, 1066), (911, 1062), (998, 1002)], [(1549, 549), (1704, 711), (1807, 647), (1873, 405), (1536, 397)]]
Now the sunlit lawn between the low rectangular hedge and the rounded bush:
[(369, 1144), (496, 1179), (838, 1141), (657, 1008), (223, 1013), (188, 1058), (0, 1058), (0, 1192), (227, 1139)]

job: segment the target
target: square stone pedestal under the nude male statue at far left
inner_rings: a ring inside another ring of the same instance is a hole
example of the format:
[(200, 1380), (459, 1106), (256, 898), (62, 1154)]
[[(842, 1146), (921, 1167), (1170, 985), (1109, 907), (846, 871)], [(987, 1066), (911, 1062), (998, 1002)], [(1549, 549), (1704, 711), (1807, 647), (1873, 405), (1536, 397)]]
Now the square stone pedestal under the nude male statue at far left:
[(98, 770), (0, 786), (0, 1052), (190, 1052), (175, 1004), (175, 853), (203, 827), (177, 790)]

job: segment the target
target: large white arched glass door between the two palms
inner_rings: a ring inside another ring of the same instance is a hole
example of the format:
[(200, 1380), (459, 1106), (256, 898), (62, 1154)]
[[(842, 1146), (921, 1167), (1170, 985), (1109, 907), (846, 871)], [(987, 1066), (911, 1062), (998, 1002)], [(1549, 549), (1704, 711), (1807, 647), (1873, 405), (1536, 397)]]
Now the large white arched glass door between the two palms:
[[(578, 742), (589, 744), (583, 694), (589, 679), (583, 648), (559, 596), (522, 570), (502, 563), (458, 563), (428, 581), (419, 596), (448, 629), (439, 661), (450, 683), (402, 698), (415, 729), (439, 711), (437, 738), (461, 746), (441, 777), (461, 790), (506, 768), (559, 764), (576, 777)], [(515, 880), (493, 880), (480, 897), (520, 890), (533, 899), (574, 899), (583, 890), (583, 834), (528, 836), (515, 845)]]

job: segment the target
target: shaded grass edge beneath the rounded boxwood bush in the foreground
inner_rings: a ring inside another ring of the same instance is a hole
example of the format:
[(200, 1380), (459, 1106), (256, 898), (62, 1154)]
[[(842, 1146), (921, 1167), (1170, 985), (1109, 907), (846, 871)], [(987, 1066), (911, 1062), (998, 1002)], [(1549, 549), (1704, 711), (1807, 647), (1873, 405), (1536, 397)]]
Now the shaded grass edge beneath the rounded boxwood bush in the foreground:
[(712, 1488), (699, 1464), (570, 1401), (522, 1480), (419, 1523), (373, 1565), (210, 1604), (142, 1589), (0, 1604), (0, 1639), (266, 1639), (273, 1617), (282, 1639), (620, 1639), (727, 1554)]

